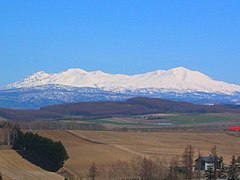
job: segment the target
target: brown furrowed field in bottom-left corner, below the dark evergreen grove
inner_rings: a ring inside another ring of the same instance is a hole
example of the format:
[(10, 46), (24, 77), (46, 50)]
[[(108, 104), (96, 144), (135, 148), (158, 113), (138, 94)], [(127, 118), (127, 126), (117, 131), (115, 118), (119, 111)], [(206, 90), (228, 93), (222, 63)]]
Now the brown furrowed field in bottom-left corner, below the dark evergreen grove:
[(11, 149), (0, 150), (0, 172), (5, 180), (63, 180), (56, 173), (45, 171), (23, 159)]

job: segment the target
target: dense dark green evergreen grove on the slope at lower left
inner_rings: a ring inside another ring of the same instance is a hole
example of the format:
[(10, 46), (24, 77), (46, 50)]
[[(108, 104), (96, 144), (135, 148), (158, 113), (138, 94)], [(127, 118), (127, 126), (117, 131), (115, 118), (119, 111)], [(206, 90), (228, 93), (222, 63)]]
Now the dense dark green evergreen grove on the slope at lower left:
[(17, 139), (13, 148), (20, 150), (19, 153), (32, 163), (43, 169), (57, 171), (68, 159), (68, 154), (60, 141), (18, 131)]

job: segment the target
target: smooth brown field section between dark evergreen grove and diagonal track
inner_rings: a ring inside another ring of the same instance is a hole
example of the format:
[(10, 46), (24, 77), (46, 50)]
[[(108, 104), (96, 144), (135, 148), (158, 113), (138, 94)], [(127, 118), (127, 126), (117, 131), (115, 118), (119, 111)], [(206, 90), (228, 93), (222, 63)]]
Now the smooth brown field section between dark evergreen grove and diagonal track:
[(132, 153), (128, 151), (78, 137), (68, 131), (41, 130), (34, 132), (55, 141), (62, 141), (70, 156), (64, 166), (78, 176), (85, 177), (93, 161), (96, 164), (108, 166), (119, 159), (128, 160), (132, 156)]

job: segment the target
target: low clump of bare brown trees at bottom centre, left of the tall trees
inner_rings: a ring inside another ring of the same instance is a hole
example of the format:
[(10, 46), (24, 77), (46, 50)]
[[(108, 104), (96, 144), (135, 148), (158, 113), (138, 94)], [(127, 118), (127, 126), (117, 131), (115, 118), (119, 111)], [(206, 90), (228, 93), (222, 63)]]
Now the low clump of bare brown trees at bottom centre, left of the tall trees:
[(159, 180), (168, 176), (167, 162), (159, 158), (134, 157), (129, 161), (118, 160), (110, 169), (98, 167), (94, 162), (89, 167), (89, 179), (135, 179)]

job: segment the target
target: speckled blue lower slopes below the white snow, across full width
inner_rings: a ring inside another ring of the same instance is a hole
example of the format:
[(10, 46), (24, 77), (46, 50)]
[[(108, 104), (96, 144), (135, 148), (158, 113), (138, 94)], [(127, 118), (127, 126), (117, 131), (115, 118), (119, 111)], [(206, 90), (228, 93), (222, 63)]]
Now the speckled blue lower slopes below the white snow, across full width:
[(0, 90), (0, 107), (35, 109), (54, 104), (95, 101), (124, 101), (133, 97), (162, 98), (195, 104), (240, 104), (240, 93), (226, 95), (203, 92), (165, 92), (159, 89), (138, 89), (113, 92), (99, 88), (78, 88), (64, 85), (41, 85), (31, 88)]

